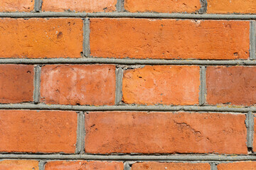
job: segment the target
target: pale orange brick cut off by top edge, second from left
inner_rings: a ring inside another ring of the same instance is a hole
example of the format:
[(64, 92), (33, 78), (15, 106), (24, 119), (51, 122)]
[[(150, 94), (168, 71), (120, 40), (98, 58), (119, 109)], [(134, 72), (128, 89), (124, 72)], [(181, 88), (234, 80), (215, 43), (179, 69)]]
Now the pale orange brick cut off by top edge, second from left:
[(115, 11), (117, 0), (43, 0), (43, 11), (85, 11), (112, 12)]

